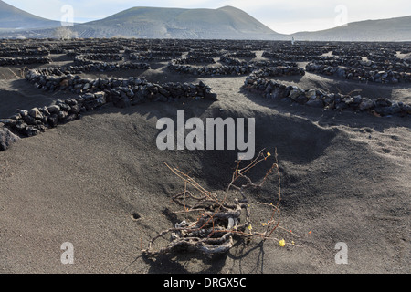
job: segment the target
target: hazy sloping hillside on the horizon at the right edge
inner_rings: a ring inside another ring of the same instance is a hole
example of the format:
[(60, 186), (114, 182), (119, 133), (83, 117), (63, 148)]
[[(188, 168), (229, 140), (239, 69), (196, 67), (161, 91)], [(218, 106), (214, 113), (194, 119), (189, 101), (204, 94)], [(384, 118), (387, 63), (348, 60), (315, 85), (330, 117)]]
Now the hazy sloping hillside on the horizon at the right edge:
[(318, 41), (411, 41), (411, 16), (353, 22), (348, 26), (293, 36)]

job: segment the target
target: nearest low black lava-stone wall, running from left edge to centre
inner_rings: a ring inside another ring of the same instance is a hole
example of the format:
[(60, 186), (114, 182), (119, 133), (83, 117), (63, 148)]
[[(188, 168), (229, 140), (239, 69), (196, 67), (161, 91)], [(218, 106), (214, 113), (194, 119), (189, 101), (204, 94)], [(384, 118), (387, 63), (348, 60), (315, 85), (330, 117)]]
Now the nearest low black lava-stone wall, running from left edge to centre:
[[(78, 78), (78, 80), (81, 80)], [(83, 83), (80, 83), (83, 84)], [(178, 99), (205, 99), (216, 101), (216, 93), (203, 82), (198, 84), (165, 83), (154, 84), (145, 78), (96, 79), (93, 89), (76, 99), (58, 99), (55, 104), (31, 110), (16, 110), (8, 119), (0, 120), (0, 151), (5, 151), (13, 142), (32, 137), (52, 129), (58, 124), (78, 120), (81, 114), (113, 105), (127, 108), (145, 102), (173, 102)]]

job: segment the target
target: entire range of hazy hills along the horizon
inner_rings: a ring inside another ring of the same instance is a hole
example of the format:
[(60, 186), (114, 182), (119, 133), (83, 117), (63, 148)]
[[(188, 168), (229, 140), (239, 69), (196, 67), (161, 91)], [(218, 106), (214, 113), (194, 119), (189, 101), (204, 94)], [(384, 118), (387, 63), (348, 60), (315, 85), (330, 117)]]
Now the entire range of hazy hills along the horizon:
[[(0, 37), (54, 37), (60, 22), (34, 16), (0, 0)], [(279, 34), (237, 7), (136, 6), (69, 27), (74, 36), (297, 41), (411, 41), (411, 16), (364, 20), (314, 32)]]

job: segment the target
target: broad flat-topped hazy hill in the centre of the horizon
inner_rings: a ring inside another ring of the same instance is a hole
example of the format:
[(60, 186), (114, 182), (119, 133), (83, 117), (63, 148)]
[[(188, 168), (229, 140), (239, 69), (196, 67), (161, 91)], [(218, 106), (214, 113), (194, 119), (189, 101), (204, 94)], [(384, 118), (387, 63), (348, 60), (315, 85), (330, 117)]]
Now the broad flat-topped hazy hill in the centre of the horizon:
[(244, 11), (219, 9), (134, 7), (116, 15), (75, 27), (80, 37), (279, 39)]

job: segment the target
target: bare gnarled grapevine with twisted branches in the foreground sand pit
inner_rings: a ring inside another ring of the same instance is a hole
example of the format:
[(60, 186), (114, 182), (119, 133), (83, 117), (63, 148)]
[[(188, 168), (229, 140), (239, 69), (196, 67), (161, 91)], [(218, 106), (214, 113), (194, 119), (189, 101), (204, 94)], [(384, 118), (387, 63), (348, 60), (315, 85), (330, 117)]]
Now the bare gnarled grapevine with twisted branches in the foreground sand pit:
[[(184, 220), (179, 224), (175, 224), (174, 228), (164, 230), (159, 235), (153, 237), (149, 242), (148, 248), (142, 251), (143, 254), (149, 256), (167, 254), (176, 248), (200, 251), (206, 255), (223, 254), (227, 253), (234, 245), (234, 236), (243, 238), (258, 237), (262, 240), (268, 239), (279, 226), (280, 219), (279, 201), (281, 195), (277, 150), (274, 155), (276, 162), (272, 164), (260, 183), (253, 183), (247, 173), (257, 166), (258, 163), (267, 161), (270, 156), (270, 153), (265, 154), (264, 150), (262, 150), (244, 168), (240, 168), (241, 161), (238, 161), (236, 171), (233, 173), (226, 194), (221, 200), (216, 193), (205, 190), (188, 174), (164, 163), (171, 172), (184, 181), (184, 192), (175, 194), (172, 197), (173, 201), (183, 206), (185, 213), (201, 212), (201, 214), (195, 222), (189, 223)], [(268, 224), (266, 224), (266, 231), (263, 233), (254, 232), (250, 219), (250, 206), (245, 191), (249, 188), (260, 188), (275, 168), (278, 171), (279, 179), (278, 202), (276, 204), (261, 203), (271, 207), (272, 214)], [(245, 180), (246, 183), (238, 186), (236, 183), (239, 179)], [(197, 193), (195, 194), (188, 190), (188, 186), (193, 187)], [(242, 198), (235, 198), (233, 203), (227, 203), (227, 193), (231, 189), (241, 193)], [(240, 217), (244, 214), (244, 223), (240, 224)], [(154, 242), (167, 234), (171, 234), (171, 242), (159, 250), (153, 250)]]

